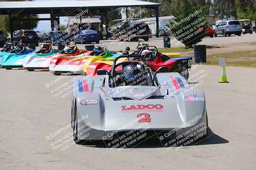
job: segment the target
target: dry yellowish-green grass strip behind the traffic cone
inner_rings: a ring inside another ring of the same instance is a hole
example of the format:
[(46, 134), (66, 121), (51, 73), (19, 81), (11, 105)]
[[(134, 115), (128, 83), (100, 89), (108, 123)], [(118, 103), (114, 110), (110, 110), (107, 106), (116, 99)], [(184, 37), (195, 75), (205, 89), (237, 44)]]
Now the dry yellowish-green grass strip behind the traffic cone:
[(205, 65), (219, 65), (218, 58), (224, 58), (227, 66), (256, 67), (256, 50), (207, 55)]

